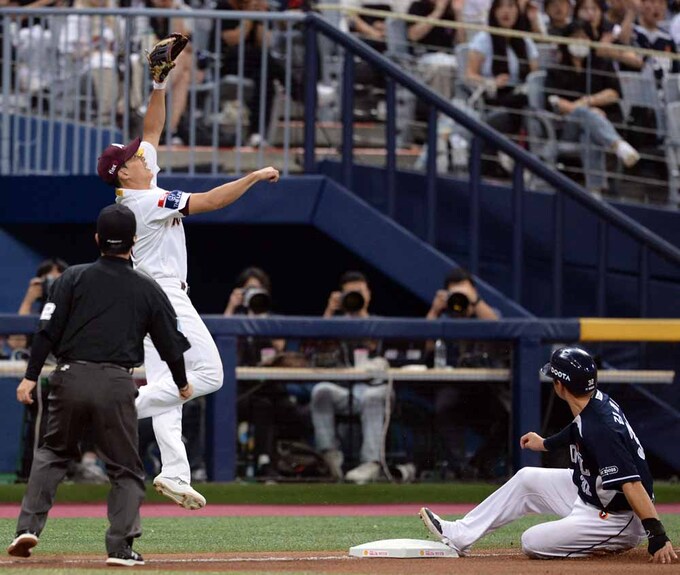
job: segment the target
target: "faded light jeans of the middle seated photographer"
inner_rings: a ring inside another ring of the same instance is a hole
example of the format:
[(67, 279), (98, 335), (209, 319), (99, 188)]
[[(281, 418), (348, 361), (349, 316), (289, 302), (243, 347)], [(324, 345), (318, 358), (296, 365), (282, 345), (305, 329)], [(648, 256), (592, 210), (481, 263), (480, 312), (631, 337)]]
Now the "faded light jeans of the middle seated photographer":
[[(361, 462), (380, 461), (387, 385), (352, 386), (352, 413), (361, 416)], [(312, 388), (310, 411), (314, 441), (319, 451), (338, 449), (335, 414), (350, 415), (349, 389), (323, 381)]]

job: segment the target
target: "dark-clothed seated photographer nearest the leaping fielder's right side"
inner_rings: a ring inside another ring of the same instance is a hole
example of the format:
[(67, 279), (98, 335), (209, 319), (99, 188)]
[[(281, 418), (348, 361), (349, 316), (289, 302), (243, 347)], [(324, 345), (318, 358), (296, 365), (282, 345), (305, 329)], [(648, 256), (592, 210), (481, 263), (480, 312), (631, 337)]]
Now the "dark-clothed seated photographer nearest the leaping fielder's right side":
[[(271, 310), (271, 294), (269, 275), (258, 267), (246, 268), (236, 278), (224, 315), (266, 317)], [(300, 354), (285, 353), (285, 346), (285, 339), (240, 338), (238, 365), (304, 366), (304, 358)], [(254, 444), (246, 441), (243, 447), (252, 450), (245, 456), (252, 458), (255, 476), (275, 475), (278, 441), (305, 440), (311, 433), (309, 407), (299, 401), (308, 398), (300, 397), (298, 387), (273, 381), (264, 386), (259, 381), (239, 383), (238, 421), (240, 426), (245, 423), (244, 428), (254, 438)]]

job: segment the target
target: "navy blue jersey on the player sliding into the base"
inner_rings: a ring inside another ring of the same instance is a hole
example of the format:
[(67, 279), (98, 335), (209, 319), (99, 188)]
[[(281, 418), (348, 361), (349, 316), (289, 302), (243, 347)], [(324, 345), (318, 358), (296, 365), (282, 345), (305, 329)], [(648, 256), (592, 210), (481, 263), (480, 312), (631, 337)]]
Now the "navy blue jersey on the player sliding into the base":
[(574, 419), (569, 451), (579, 497), (606, 511), (630, 510), (622, 486), (641, 481), (654, 500), (652, 476), (633, 428), (617, 403), (596, 391)]

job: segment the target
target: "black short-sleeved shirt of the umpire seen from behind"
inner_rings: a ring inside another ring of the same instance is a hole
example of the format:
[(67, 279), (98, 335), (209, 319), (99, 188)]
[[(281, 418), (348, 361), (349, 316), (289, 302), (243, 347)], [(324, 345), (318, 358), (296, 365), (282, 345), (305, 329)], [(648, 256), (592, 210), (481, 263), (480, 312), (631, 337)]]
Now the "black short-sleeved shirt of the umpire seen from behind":
[(147, 333), (166, 362), (191, 347), (167, 295), (133, 270), (130, 260), (101, 256), (94, 263), (71, 266), (57, 279), (43, 308), (26, 378), (37, 381), (50, 349), (60, 362), (137, 367), (144, 361)]

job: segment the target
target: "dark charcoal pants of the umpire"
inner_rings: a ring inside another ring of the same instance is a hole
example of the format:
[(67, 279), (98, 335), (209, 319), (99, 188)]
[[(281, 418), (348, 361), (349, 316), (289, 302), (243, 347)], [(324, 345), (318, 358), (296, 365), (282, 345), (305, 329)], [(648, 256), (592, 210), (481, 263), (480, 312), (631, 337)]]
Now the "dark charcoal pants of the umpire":
[(45, 442), (35, 455), (17, 531), (40, 535), (69, 461), (89, 424), (111, 481), (107, 553), (132, 545), (142, 533), (139, 507), (144, 470), (138, 453), (137, 387), (129, 373), (94, 363), (60, 363), (50, 378)]

